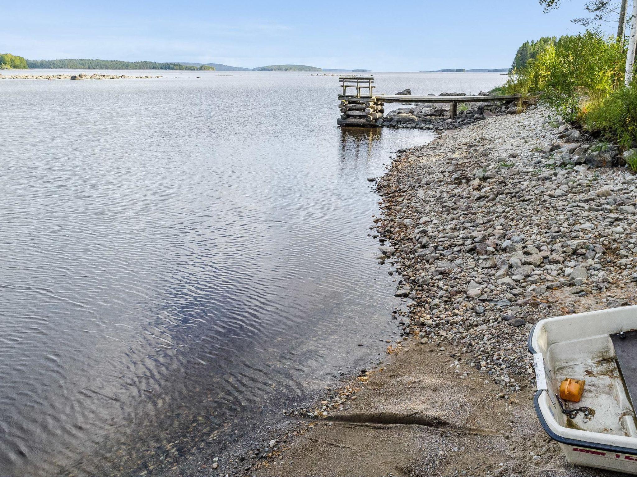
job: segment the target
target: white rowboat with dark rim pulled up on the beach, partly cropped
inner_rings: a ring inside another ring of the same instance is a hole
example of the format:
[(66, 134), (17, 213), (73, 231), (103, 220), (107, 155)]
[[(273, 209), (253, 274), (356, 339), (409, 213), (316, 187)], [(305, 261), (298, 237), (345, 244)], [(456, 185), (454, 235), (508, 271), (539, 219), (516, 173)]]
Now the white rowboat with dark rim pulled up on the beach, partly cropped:
[[(637, 474), (637, 305), (548, 318), (529, 336), (541, 425), (569, 462)], [(562, 380), (585, 380), (578, 403)]]

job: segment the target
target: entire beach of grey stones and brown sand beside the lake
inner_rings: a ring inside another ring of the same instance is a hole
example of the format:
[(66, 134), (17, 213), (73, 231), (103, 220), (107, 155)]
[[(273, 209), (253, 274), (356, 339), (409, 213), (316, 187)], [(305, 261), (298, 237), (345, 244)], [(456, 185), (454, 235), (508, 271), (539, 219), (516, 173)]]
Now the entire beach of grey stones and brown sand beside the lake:
[[(570, 466), (541, 429), (526, 342), (545, 317), (636, 301), (637, 194), (623, 164), (637, 150), (621, 155), (541, 107), (501, 113), (397, 152), (372, 229), (377, 258), (398, 275), (401, 337), (354, 384), (287, 411), (301, 419), (295, 430), (233, 474), (610, 475)], [(472, 415), (476, 406), (497, 413)], [(435, 431), (469, 423), (473, 438)], [(368, 438), (389, 443), (367, 452)]]

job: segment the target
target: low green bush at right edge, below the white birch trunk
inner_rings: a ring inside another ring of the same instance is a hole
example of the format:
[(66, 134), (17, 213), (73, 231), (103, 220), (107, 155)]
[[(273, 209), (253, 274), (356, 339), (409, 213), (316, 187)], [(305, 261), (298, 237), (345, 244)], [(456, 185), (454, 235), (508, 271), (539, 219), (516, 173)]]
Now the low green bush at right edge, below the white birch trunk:
[(637, 81), (592, 103), (585, 110), (585, 128), (619, 142), (624, 148), (637, 141)]

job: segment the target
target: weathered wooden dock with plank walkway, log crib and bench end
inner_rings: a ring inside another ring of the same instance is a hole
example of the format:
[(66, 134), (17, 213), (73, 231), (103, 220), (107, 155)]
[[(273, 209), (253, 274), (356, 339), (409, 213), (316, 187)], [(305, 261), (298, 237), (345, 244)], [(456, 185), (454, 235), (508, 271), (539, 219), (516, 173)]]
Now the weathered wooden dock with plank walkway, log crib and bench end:
[[(336, 121), (342, 126), (378, 127), (382, 124), (385, 113), (385, 102), (433, 102), (449, 103), (449, 118), (454, 119), (457, 114), (458, 103), (463, 102), (512, 102), (520, 99), (519, 94), (512, 95), (485, 95), (485, 96), (412, 96), (397, 94), (374, 95), (373, 76), (339, 76), (341, 81), (341, 94), (338, 95), (341, 117)], [(349, 90), (354, 88), (355, 93)], [(366, 94), (362, 94), (366, 93)]]

